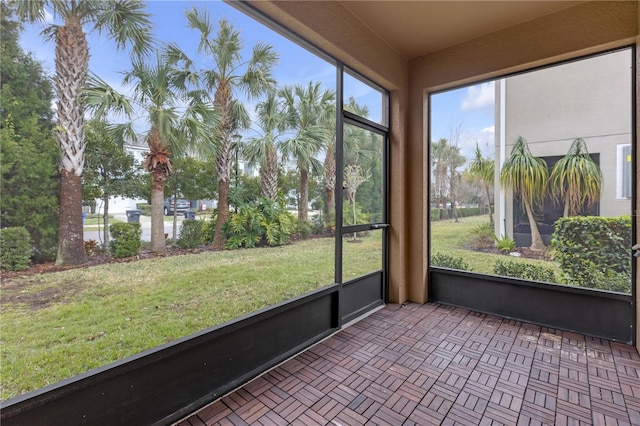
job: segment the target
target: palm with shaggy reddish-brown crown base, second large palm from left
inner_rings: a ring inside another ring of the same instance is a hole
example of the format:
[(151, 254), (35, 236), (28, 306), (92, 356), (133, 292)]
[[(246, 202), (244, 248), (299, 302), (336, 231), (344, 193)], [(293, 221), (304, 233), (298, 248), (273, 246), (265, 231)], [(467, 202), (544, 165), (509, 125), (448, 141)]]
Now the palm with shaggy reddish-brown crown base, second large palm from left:
[[(197, 91), (188, 91), (185, 76), (167, 55), (159, 55), (155, 63), (134, 60), (125, 74), (124, 84), (133, 85), (131, 101), (116, 93), (107, 83), (93, 78), (87, 91), (87, 102), (102, 114), (107, 110), (130, 112), (131, 103), (144, 113), (148, 132), (140, 135), (149, 146), (143, 167), (151, 173), (151, 251), (166, 253), (164, 236), (164, 189), (171, 173), (172, 152), (183, 153), (190, 144), (208, 137), (209, 123), (215, 123), (212, 108), (207, 108)], [(184, 107), (185, 101), (187, 103)], [(114, 126), (118, 140), (136, 140), (139, 135), (133, 123)]]

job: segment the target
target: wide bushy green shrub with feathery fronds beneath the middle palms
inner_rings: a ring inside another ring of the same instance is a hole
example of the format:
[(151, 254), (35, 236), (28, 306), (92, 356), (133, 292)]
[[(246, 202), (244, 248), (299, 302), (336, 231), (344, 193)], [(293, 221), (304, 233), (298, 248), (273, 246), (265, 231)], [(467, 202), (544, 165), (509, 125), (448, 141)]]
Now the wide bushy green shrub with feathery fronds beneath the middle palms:
[(287, 212), (284, 200), (260, 198), (244, 204), (232, 213), (222, 227), (227, 239), (225, 248), (279, 246), (289, 242), (296, 229), (296, 219)]

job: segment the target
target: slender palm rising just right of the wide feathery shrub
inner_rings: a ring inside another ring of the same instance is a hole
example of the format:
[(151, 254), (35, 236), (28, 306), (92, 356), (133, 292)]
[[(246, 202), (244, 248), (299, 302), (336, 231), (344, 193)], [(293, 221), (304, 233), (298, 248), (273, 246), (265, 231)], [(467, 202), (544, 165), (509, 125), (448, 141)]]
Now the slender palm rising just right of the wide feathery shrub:
[(293, 138), (282, 144), (283, 157), (295, 158), (300, 173), (300, 195), (298, 202), (298, 221), (308, 220), (309, 172), (320, 173), (322, 164), (316, 155), (326, 146), (329, 139), (327, 120), (332, 116), (334, 103), (333, 91), (323, 90), (320, 83), (309, 82), (305, 88), (301, 85), (285, 87), (281, 91), (293, 116)]

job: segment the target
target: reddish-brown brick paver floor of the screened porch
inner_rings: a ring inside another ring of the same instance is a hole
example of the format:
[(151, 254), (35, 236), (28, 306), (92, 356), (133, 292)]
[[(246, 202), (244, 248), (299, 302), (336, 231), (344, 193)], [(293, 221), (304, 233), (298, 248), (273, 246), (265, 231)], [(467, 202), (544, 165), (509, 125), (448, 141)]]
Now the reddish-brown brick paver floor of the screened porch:
[(191, 425), (640, 425), (632, 346), (439, 304), (388, 305)]

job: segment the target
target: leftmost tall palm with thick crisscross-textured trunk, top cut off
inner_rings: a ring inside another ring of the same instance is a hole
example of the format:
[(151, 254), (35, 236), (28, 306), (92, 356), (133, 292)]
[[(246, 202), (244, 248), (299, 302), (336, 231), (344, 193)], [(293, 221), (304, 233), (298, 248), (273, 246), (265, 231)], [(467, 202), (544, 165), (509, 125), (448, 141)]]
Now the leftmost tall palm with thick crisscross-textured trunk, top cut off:
[(132, 0), (16, 0), (18, 16), (43, 22), (45, 8), (64, 20), (44, 33), (55, 40), (54, 78), (57, 98), (56, 141), (60, 147), (60, 221), (56, 264), (87, 261), (82, 229), (84, 166), (83, 92), (89, 69), (89, 44), (84, 28), (106, 32), (118, 48), (131, 44), (136, 54), (146, 53), (151, 43), (151, 22), (142, 2)]

